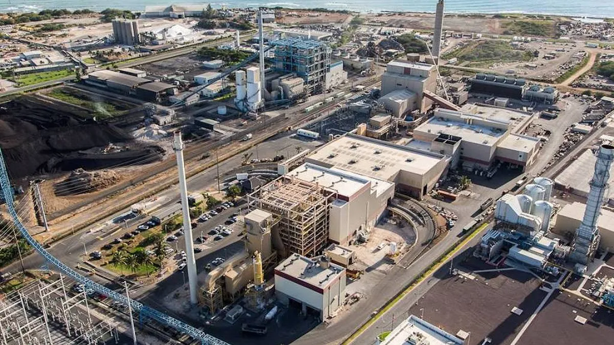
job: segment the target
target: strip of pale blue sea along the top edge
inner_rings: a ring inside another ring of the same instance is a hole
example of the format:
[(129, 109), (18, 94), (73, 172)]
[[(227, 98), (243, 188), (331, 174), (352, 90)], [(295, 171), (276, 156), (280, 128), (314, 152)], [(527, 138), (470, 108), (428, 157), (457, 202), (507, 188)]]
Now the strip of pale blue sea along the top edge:
[[(230, 0), (225, 2), (200, 2), (200, 1), (173, 1), (173, 0), (146, 0), (146, 1), (118, 1), (111, 0), (100, 6), (101, 2), (85, 0), (9, 0), (8, 4), (0, 5), (0, 13), (8, 12), (40, 12), (45, 9), (90, 9), (100, 12), (101, 10), (123, 9), (132, 12), (144, 12), (146, 6), (171, 6), (176, 5), (199, 5), (219, 9), (226, 6), (231, 9), (250, 7), (284, 7), (285, 9), (314, 9), (325, 8), (328, 10), (349, 10), (351, 12), (365, 13), (424, 13), (433, 14), (437, 0), (416, 0), (411, 4), (399, 4), (397, 0), (383, 0), (378, 2), (378, 7), (372, 7), (368, 0), (357, 0), (351, 3), (329, 2), (327, 0), (311, 1), (309, 6), (301, 6), (295, 2), (255, 2), (254, 0)], [(526, 15), (551, 15), (572, 18), (614, 18), (614, 6), (606, 6), (603, 3), (595, 4), (592, 0), (578, 0), (565, 2), (562, 0), (543, 0), (539, 6), (521, 0), (510, 0), (503, 4), (492, 4), (489, 0), (448, 0), (445, 1), (446, 13), (448, 14), (526, 14)], [(580, 13), (585, 12), (585, 13)]]

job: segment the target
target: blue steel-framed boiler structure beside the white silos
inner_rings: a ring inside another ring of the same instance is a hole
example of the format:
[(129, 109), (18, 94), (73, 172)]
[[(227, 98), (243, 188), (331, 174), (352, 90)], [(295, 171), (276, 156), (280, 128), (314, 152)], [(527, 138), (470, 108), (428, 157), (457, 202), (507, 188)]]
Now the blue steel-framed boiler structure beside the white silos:
[(275, 47), (273, 68), (292, 72), (305, 80), (305, 88), (311, 94), (325, 90), (326, 73), (330, 71), (332, 49), (321, 41), (298, 37), (271, 42)]

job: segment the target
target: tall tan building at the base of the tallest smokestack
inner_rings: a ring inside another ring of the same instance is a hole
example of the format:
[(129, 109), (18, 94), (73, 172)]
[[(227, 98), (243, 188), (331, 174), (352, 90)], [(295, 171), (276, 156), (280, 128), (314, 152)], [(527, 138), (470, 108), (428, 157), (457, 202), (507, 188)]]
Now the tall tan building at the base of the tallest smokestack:
[[(382, 76), (381, 95), (386, 99), (389, 93), (396, 90), (411, 92), (406, 95), (410, 100), (405, 102), (411, 105), (409, 111), (418, 109), (420, 112), (425, 112), (432, 106), (433, 101), (423, 96), (424, 91), (427, 90), (432, 93), (437, 91), (435, 66), (399, 60), (389, 62), (386, 66), (386, 72)], [(399, 96), (401, 95), (395, 94), (395, 97), (392, 98), (398, 103), (400, 102)], [(416, 98), (416, 101), (411, 98)]]

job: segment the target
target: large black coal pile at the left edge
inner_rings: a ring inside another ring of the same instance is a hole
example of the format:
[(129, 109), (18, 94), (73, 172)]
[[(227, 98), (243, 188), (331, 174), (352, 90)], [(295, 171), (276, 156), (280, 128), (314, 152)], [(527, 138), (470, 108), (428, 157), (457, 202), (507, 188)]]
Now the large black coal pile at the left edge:
[(158, 147), (107, 155), (84, 153), (109, 143), (131, 142), (133, 138), (117, 126), (85, 120), (79, 111), (82, 110), (29, 95), (0, 104), (0, 148), (10, 177), (21, 179), (161, 159)]

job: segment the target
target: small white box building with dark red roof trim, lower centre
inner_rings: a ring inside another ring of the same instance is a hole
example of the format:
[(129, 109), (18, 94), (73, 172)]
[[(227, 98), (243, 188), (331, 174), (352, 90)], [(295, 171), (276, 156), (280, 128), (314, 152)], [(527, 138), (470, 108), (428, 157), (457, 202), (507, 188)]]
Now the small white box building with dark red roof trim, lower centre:
[(321, 320), (335, 315), (343, 304), (345, 290), (346, 270), (325, 256), (292, 254), (275, 268), (275, 294), (279, 300)]

